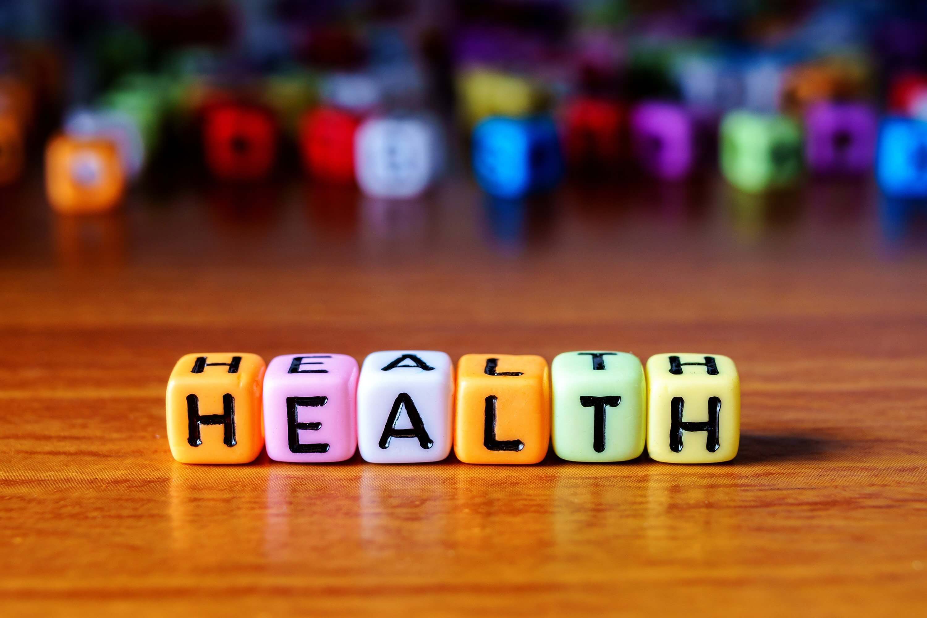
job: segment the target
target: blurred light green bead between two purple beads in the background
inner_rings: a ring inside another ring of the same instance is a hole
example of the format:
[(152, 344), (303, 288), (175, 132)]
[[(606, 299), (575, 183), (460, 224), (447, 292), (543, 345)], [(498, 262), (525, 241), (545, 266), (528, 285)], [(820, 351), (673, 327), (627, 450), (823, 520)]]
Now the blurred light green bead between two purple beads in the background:
[(733, 111), (721, 121), (721, 171), (749, 193), (789, 186), (802, 170), (802, 132), (785, 116)]

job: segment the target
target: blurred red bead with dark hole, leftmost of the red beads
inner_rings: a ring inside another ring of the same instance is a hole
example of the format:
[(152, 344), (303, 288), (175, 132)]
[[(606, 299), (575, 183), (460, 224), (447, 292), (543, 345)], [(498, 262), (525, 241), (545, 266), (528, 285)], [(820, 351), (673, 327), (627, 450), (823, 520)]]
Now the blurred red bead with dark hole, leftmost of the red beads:
[(222, 104), (203, 120), (206, 162), (217, 177), (255, 181), (268, 175), (277, 150), (277, 128), (262, 107)]

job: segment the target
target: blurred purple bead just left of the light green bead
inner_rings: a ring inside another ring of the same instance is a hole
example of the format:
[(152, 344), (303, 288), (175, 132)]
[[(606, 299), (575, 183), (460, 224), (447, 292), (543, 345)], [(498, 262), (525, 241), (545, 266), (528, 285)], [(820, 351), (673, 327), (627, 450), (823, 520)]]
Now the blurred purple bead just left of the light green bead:
[(692, 170), (694, 129), (685, 107), (675, 103), (641, 103), (630, 119), (634, 155), (657, 178), (678, 180)]

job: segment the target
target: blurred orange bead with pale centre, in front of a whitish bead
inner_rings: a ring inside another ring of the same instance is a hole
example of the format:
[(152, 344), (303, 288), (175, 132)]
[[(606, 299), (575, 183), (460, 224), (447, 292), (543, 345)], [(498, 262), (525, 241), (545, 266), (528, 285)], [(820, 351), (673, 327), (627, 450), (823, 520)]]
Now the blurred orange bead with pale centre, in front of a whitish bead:
[(116, 208), (125, 191), (117, 146), (107, 139), (52, 138), (45, 149), (45, 191), (58, 212)]

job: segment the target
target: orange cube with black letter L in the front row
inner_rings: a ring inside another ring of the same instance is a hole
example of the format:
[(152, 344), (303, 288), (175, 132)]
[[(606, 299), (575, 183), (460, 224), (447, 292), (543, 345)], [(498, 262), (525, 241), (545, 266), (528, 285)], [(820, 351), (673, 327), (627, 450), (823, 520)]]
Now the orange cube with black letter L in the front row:
[(551, 441), (551, 379), (540, 356), (466, 354), (457, 365), (454, 452), (464, 463), (538, 463)]

